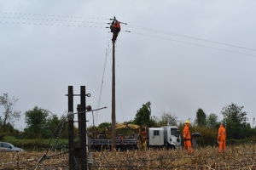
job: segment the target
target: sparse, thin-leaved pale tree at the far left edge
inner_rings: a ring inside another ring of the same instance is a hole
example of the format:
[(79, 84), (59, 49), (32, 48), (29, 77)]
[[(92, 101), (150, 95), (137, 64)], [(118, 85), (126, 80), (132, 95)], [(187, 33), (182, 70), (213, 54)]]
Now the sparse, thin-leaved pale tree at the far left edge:
[(6, 127), (8, 122), (12, 122), (15, 120), (20, 120), (20, 111), (14, 111), (13, 107), (15, 106), (15, 103), (18, 99), (15, 99), (13, 97), (12, 99), (9, 99), (8, 94), (3, 94), (3, 96), (0, 96), (0, 105), (3, 105), (4, 112), (3, 112), (3, 128)]

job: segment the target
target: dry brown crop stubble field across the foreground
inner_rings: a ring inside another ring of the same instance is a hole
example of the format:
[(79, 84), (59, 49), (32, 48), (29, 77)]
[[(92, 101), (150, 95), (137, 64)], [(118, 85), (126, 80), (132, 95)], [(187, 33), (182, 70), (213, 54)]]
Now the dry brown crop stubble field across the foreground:
[[(0, 169), (69, 169), (65, 150), (19, 153), (0, 152)], [(92, 152), (91, 169), (256, 169), (256, 145), (228, 146), (219, 154), (217, 147), (205, 147), (187, 155), (184, 150), (127, 150)], [(79, 169), (79, 159), (75, 160)], [(89, 169), (89, 168), (88, 168)]]

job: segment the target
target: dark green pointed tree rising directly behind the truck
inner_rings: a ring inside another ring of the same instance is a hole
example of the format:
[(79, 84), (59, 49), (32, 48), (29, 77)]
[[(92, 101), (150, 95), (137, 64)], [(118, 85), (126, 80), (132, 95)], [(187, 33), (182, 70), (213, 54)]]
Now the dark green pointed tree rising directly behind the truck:
[(146, 104), (143, 104), (143, 107), (137, 111), (137, 114), (134, 118), (134, 123), (137, 125), (147, 125), (148, 127), (152, 127), (152, 122), (150, 121), (151, 115), (151, 108), (150, 108), (150, 101)]

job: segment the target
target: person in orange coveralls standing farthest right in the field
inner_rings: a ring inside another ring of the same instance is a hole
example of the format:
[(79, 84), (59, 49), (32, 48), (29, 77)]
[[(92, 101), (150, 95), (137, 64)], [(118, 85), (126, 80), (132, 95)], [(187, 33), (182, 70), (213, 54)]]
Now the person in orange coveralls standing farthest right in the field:
[(218, 153), (224, 152), (226, 149), (226, 129), (224, 127), (224, 123), (220, 122), (218, 127)]

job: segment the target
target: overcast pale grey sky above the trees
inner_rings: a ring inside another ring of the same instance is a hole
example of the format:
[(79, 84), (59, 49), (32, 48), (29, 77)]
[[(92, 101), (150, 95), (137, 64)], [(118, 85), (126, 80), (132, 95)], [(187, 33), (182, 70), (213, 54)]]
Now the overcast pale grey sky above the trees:
[[(0, 0), (0, 94), (19, 99), (22, 113), (37, 105), (61, 116), (67, 87), (79, 94), (86, 86), (96, 109), (107, 56), (100, 106), (108, 109), (96, 125), (111, 122), (112, 35), (104, 27), (113, 16), (127, 23), (116, 42), (117, 122), (148, 101), (153, 116), (183, 121), (198, 108), (222, 119), (234, 103), (253, 121), (255, 1)], [(78, 104), (74, 97), (74, 111)], [(26, 127), (24, 116), (15, 127)]]

